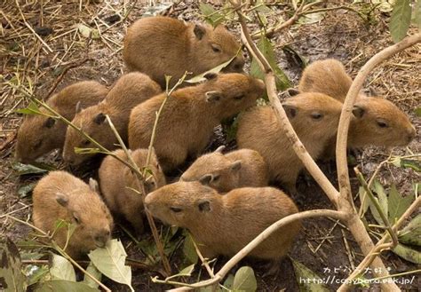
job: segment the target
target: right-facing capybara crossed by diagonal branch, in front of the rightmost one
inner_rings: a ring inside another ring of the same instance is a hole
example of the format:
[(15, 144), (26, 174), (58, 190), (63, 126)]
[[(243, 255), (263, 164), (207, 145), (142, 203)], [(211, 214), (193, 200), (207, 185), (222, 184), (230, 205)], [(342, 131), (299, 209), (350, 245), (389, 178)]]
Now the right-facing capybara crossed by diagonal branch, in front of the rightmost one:
[[(322, 93), (301, 93), (283, 105), (298, 138), (317, 159), (326, 143), (335, 137), (342, 104)], [(322, 114), (319, 119), (315, 118)], [(271, 180), (279, 180), (290, 193), (296, 193), (296, 180), (303, 164), (283, 132), (272, 107), (255, 107), (243, 113), (238, 122), (237, 144), (263, 156)]]

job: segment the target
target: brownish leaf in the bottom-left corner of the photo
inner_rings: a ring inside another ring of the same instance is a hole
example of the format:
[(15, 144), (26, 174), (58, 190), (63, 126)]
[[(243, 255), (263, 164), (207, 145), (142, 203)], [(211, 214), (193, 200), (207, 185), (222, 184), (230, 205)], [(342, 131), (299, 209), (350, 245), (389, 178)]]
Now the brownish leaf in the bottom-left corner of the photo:
[(16, 245), (5, 236), (0, 238), (0, 288), (5, 291), (26, 291), (25, 277)]

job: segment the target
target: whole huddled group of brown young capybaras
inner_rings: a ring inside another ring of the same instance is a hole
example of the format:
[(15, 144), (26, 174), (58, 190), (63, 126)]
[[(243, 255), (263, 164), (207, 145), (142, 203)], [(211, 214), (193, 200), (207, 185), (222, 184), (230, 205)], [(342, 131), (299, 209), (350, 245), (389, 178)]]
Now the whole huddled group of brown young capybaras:
[[(230, 59), (222, 73), (204, 75), (201, 83), (183, 83), (167, 96), (167, 85), (171, 88), (186, 71), (203, 74)], [(99, 188), (93, 179), (88, 185), (67, 171), (52, 171), (34, 189), (34, 224), (54, 234), (70, 256), (80, 258), (104, 247), (111, 238), (113, 217), (128, 221), (141, 236), (145, 211), (163, 224), (187, 228), (203, 256), (233, 256), (268, 226), (298, 212), (290, 195), (298, 192), (303, 165), (274, 109), (257, 106), (266, 87), (242, 71), (241, 44), (233, 34), (222, 26), (145, 18), (128, 28), (123, 60), (131, 72), (111, 88), (84, 81), (46, 101), (78, 130), (49, 114), (25, 118), (18, 133), (20, 162), (34, 162), (60, 148), (68, 165), (80, 166), (92, 155), (76, 154), (75, 148), (95, 146), (79, 130), (114, 151), (99, 167)], [(170, 84), (165, 75), (172, 76)], [(342, 103), (352, 82), (338, 60), (318, 60), (306, 67), (297, 94), (282, 101), (314, 160), (333, 157)], [(236, 114), (238, 149), (219, 146), (205, 154), (214, 128)], [(121, 149), (107, 116), (129, 151)], [(350, 148), (406, 146), (415, 136), (408, 116), (393, 103), (358, 97)], [(136, 163), (143, 178), (117, 158)], [(186, 170), (186, 162), (192, 160)], [(183, 168), (186, 171), (174, 181), (174, 171)], [(170, 173), (172, 177), (166, 177)], [(274, 182), (285, 193), (270, 186)], [(70, 239), (66, 228), (56, 230), (60, 220), (75, 225)], [(299, 221), (282, 226), (250, 256), (278, 263), (300, 226)]]

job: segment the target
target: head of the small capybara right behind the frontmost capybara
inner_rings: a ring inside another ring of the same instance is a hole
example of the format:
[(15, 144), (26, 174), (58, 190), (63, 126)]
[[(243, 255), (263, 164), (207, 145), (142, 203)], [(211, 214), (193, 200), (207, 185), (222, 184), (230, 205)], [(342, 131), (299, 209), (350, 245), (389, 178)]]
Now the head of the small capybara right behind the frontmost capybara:
[(224, 148), (220, 146), (215, 152), (197, 158), (179, 180), (198, 180), (223, 193), (234, 189), (235, 185), (239, 185), (242, 161), (231, 162), (221, 153)]

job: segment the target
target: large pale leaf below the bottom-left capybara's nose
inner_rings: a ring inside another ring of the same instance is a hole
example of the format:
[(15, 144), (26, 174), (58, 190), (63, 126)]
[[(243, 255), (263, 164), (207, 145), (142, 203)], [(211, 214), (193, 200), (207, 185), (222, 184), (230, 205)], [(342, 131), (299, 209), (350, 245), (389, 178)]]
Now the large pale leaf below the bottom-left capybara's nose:
[(127, 254), (121, 241), (112, 240), (104, 249), (94, 249), (88, 256), (99, 272), (134, 291), (131, 287), (131, 267), (124, 265)]

